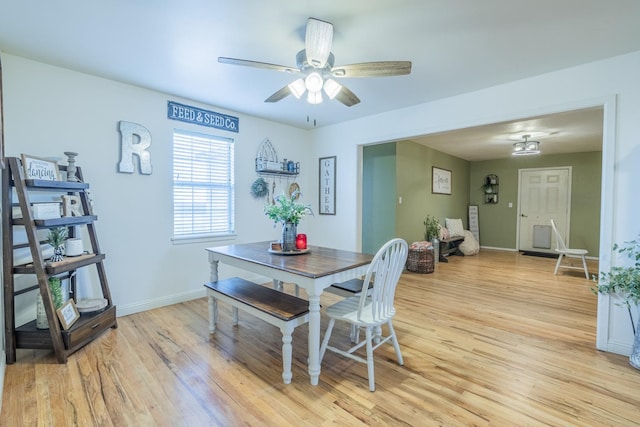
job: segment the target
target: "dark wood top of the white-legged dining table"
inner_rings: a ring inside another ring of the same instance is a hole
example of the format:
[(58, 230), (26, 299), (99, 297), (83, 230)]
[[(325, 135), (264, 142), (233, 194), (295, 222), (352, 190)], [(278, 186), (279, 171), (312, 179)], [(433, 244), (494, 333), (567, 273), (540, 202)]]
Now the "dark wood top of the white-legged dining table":
[(367, 265), (373, 259), (370, 254), (321, 246), (309, 246), (305, 254), (281, 255), (269, 252), (270, 245), (271, 242), (244, 243), (207, 250), (314, 279)]

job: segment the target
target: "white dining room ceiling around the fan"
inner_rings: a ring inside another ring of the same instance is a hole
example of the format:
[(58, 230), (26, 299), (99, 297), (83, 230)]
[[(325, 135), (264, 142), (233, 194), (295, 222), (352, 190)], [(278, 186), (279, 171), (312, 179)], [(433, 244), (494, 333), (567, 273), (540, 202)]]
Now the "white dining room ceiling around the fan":
[[(333, 23), (336, 65), (409, 60), (411, 75), (343, 79), (362, 100), (350, 108), (273, 104), (263, 101), (290, 75), (217, 62), (295, 66), (308, 17)], [(637, 0), (2, 0), (0, 50), (309, 129), (640, 50), (639, 19)], [(517, 126), (455, 138), (494, 141)]]

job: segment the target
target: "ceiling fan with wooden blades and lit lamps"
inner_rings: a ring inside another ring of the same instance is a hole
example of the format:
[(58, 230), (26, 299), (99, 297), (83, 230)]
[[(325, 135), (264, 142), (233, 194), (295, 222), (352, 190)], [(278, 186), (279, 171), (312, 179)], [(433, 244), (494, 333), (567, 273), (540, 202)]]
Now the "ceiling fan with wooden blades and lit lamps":
[(299, 76), (298, 79), (265, 99), (265, 102), (278, 102), (289, 95), (300, 99), (306, 92), (307, 102), (319, 104), (322, 102), (324, 90), (329, 99), (337, 99), (347, 107), (358, 104), (360, 99), (334, 78), (389, 77), (411, 73), (411, 61), (362, 62), (334, 66), (335, 58), (331, 53), (332, 42), (333, 24), (309, 18), (304, 49), (296, 55), (297, 68), (223, 56), (218, 58), (218, 62), (284, 71)]

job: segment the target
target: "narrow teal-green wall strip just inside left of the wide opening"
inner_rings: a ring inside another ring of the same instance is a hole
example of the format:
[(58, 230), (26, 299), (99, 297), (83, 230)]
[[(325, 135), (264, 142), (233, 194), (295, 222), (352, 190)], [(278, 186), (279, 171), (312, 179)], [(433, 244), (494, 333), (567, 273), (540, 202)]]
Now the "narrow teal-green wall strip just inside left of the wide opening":
[(362, 251), (375, 254), (396, 232), (396, 143), (362, 149)]

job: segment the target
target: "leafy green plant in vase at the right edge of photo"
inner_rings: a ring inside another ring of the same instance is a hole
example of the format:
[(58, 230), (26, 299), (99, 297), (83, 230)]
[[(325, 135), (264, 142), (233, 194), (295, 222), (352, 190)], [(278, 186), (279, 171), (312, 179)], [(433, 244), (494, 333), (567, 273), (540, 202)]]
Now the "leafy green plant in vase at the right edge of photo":
[[(636, 326), (631, 311), (632, 307), (637, 307), (640, 304), (640, 238), (625, 243), (627, 246), (624, 247), (617, 243), (614, 244), (613, 250), (626, 255), (634, 261), (634, 264), (628, 267), (612, 267), (611, 271), (602, 272), (600, 282), (593, 290), (602, 294), (617, 295), (623, 299), (620, 305), (627, 307), (634, 334), (629, 364), (640, 369), (640, 319)], [(597, 278), (594, 277), (593, 280), (596, 281)]]

